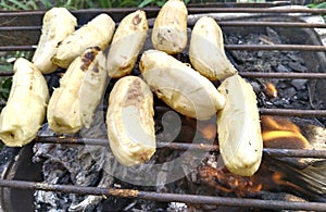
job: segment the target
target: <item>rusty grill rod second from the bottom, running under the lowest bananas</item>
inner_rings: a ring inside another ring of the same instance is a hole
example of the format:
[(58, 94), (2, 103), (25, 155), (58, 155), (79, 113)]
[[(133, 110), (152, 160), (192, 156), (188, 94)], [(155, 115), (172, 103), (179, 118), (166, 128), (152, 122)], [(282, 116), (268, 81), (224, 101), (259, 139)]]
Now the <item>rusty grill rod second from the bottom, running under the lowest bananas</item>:
[[(35, 142), (42, 144), (60, 144), (60, 145), (90, 145), (109, 147), (108, 139), (96, 138), (78, 138), (78, 137), (57, 137), (57, 136), (38, 136)], [(158, 142), (158, 148), (168, 148), (178, 151), (200, 150), (200, 151), (218, 151), (218, 146), (208, 144), (191, 144), (191, 142)], [(288, 157), (288, 158), (316, 158), (326, 159), (326, 150), (306, 150), (306, 149), (271, 149), (264, 148), (263, 152), (272, 157)]]

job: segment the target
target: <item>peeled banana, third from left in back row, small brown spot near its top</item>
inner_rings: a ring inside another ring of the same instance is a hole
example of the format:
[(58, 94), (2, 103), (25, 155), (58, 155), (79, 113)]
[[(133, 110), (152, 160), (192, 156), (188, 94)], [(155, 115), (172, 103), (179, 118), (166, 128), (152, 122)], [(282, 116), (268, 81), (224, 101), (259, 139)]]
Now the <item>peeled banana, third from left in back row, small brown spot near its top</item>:
[(120, 23), (108, 54), (108, 74), (118, 78), (130, 74), (148, 33), (146, 13), (141, 10), (125, 16)]

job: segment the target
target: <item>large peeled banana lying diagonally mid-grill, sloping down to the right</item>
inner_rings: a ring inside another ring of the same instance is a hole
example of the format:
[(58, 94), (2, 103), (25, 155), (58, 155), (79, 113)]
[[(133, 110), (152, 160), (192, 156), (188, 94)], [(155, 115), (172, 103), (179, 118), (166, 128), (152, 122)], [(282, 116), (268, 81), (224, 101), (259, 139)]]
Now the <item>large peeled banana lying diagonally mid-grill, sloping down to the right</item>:
[(143, 52), (139, 67), (156, 96), (186, 116), (209, 120), (225, 104), (208, 78), (163, 51)]

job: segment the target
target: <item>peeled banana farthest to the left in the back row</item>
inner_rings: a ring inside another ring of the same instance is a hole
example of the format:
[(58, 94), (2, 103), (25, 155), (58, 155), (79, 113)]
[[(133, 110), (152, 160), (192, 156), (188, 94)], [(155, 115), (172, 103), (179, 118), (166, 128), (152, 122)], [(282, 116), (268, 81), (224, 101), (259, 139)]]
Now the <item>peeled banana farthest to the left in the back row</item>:
[(58, 68), (58, 65), (51, 62), (51, 58), (55, 54), (57, 46), (74, 33), (76, 25), (76, 17), (65, 8), (52, 8), (46, 12), (42, 34), (32, 59), (40, 72), (49, 74)]

